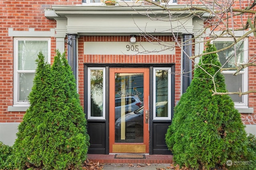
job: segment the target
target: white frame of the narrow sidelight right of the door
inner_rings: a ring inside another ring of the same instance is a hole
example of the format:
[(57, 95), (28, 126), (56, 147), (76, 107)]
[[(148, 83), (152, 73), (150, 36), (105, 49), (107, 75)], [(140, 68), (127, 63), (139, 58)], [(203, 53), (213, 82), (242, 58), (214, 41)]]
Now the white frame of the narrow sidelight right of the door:
[[(156, 70), (168, 71), (168, 117), (156, 117)], [(172, 119), (172, 105), (171, 105), (171, 68), (170, 67), (154, 67), (153, 68), (153, 120), (171, 120)]]

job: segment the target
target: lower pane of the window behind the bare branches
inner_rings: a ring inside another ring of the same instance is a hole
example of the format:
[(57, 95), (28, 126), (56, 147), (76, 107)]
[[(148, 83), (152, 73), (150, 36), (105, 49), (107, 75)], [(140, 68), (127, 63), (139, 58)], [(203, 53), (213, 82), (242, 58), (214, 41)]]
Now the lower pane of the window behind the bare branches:
[[(243, 89), (243, 74), (238, 74), (237, 76), (234, 76), (233, 74), (223, 74), (225, 77), (225, 82), (226, 82), (226, 89), (228, 92), (238, 92), (239, 89), (242, 91)], [(228, 83), (227, 83), (228, 82)], [(231, 94), (229, 95), (233, 102), (243, 102), (242, 96), (239, 96), (237, 94)]]

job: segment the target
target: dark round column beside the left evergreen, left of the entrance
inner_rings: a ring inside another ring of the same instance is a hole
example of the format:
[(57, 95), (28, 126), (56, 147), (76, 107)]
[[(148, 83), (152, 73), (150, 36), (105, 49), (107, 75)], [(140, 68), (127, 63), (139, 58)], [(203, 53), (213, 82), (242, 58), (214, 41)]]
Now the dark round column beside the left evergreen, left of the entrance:
[(77, 57), (76, 57), (76, 37), (77, 34), (67, 34), (68, 35), (68, 64), (71, 66), (73, 74), (77, 80), (76, 67), (77, 67)]

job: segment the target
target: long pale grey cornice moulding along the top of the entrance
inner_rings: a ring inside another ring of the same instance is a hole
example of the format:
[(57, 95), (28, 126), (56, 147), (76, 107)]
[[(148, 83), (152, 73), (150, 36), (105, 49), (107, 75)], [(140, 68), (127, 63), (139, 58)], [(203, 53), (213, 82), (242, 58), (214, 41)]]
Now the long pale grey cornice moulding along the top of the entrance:
[[(198, 8), (204, 8), (198, 5)], [(200, 10), (184, 10), (188, 8), (186, 5), (170, 5), (169, 10), (164, 10), (158, 6), (52, 6), (51, 9), (45, 10), (45, 17), (48, 19), (65, 18), (66, 16), (82, 16), (82, 15), (161, 15), (172, 14), (174, 16), (187, 16), (196, 13), (203, 14)], [(56, 15), (52, 15), (52, 11)]]

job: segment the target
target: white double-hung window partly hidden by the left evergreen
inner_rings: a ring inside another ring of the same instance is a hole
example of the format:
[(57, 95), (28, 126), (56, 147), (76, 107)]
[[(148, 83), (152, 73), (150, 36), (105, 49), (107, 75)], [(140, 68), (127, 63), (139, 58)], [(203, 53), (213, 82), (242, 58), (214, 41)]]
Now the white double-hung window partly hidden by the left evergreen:
[(40, 51), (50, 63), (50, 38), (14, 38), (14, 106), (29, 105)]

